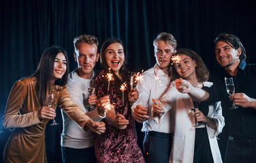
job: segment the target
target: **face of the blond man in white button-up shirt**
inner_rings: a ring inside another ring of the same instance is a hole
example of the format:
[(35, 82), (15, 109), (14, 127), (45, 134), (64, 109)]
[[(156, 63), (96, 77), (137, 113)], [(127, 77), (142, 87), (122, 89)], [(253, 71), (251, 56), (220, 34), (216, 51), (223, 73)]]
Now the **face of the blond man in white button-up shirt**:
[(167, 73), (170, 67), (171, 57), (174, 54), (174, 48), (167, 44), (165, 41), (157, 41), (157, 46), (155, 46), (155, 59), (157, 65)]

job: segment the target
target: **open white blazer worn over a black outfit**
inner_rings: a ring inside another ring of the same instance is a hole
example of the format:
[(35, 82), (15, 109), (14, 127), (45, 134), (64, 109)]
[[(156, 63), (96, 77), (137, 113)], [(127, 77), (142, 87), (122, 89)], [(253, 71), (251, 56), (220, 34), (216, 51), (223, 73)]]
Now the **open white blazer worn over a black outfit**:
[[(212, 86), (211, 82), (204, 82), (204, 86)], [(172, 82), (169, 90), (163, 95), (161, 101), (165, 108), (165, 113), (173, 108), (175, 124), (174, 139), (172, 144), (172, 152), (169, 162), (177, 163), (193, 163), (194, 145), (195, 145), (195, 117), (191, 112), (191, 97), (188, 94), (178, 92), (175, 82)], [(224, 117), (222, 115), (221, 102), (209, 105), (208, 117), (212, 117), (217, 124), (217, 130), (206, 125), (210, 149), (214, 162), (220, 163), (221, 153), (217, 142), (217, 135), (222, 132), (225, 126)], [(155, 118), (155, 122), (160, 124), (165, 116), (160, 119)]]

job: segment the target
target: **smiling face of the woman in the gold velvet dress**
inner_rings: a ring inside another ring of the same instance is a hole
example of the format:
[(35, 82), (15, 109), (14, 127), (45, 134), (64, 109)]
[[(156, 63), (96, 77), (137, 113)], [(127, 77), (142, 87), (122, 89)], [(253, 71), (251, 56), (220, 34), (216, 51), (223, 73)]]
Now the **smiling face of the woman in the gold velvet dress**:
[(67, 70), (67, 59), (63, 53), (57, 54), (54, 60), (54, 80), (61, 79)]

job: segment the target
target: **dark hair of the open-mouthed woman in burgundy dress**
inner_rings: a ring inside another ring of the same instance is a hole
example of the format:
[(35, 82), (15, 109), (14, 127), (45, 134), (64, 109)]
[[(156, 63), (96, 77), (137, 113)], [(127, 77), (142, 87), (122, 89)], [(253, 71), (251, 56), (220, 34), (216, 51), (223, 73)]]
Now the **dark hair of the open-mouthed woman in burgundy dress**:
[[(100, 52), (100, 61), (101, 61), (101, 65), (103, 67), (103, 70), (106, 71), (106, 73), (108, 73), (108, 64), (106, 62), (106, 49), (108, 48), (108, 46), (110, 46), (112, 43), (120, 43), (123, 46), (123, 52), (125, 54), (125, 60), (123, 62), (123, 65), (121, 66), (121, 69), (119, 69), (119, 75), (121, 75), (122, 78), (125, 77), (125, 71), (127, 71), (127, 69), (125, 68), (125, 65), (127, 63), (127, 53), (125, 50), (125, 46), (123, 44), (123, 42), (118, 39), (118, 38), (110, 38), (107, 39), (106, 41), (103, 42), (102, 46), (101, 46), (101, 52)], [(114, 73), (114, 71), (110, 70), (110, 72), (113, 74), (114, 77), (114, 87), (116, 88), (116, 91), (118, 92), (119, 96), (122, 96), (122, 91), (120, 90), (121, 85), (123, 84), (121, 82), (121, 79), (119, 79), (116, 75), (116, 73)], [(126, 96), (126, 95), (125, 95)]]

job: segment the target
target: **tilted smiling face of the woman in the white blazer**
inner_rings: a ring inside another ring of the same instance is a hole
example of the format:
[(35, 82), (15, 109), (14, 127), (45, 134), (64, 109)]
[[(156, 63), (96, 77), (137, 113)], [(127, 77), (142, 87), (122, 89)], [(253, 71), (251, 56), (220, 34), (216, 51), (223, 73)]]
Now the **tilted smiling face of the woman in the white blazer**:
[(176, 71), (178, 75), (183, 79), (196, 79), (195, 67), (197, 64), (195, 60), (192, 60), (189, 56), (185, 54), (178, 54), (180, 56), (180, 62), (178, 63), (178, 69)]

